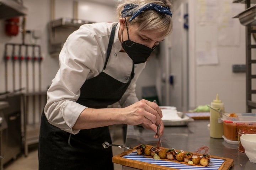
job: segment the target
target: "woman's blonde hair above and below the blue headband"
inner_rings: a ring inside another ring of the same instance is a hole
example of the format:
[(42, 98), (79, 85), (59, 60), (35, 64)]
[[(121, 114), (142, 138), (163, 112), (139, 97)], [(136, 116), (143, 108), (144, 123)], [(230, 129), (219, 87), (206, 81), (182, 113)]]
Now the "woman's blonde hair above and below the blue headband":
[[(127, 4), (137, 5), (132, 10), (128, 11), (131, 16), (138, 11), (140, 8), (154, 3), (160, 6), (169, 7), (172, 11), (172, 5), (169, 0), (121, 0), (117, 6), (117, 17), (121, 17), (124, 6)], [(135, 19), (129, 22), (131, 16), (127, 16), (127, 24), (138, 25), (138, 30), (157, 30), (163, 32), (163, 36), (167, 36), (172, 31), (172, 19), (171, 16), (161, 14), (155, 10), (144, 11), (138, 15)]]

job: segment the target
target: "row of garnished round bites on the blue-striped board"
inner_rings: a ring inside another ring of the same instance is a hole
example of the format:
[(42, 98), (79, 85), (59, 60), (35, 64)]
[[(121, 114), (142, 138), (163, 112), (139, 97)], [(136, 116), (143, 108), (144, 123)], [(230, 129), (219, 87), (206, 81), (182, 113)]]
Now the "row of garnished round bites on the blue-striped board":
[[(208, 149), (208, 147), (202, 147), (197, 149), (194, 153), (182, 150), (177, 152), (174, 148), (166, 149), (142, 144), (137, 147), (137, 154), (145, 155), (145, 157), (153, 157), (154, 159), (165, 159), (194, 166), (208, 166), (210, 163)], [(202, 156), (199, 154), (201, 152), (203, 152)]]

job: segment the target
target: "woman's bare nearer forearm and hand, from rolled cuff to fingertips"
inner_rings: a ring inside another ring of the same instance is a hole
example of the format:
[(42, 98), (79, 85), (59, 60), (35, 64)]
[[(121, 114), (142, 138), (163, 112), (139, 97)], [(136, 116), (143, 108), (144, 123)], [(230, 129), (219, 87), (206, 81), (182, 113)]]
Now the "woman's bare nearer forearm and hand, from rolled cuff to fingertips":
[(156, 103), (141, 100), (125, 108), (85, 108), (76, 120), (73, 130), (97, 128), (113, 124), (153, 125), (152, 128), (154, 130), (154, 125), (162, 123), (161, 118), (162, 111)]

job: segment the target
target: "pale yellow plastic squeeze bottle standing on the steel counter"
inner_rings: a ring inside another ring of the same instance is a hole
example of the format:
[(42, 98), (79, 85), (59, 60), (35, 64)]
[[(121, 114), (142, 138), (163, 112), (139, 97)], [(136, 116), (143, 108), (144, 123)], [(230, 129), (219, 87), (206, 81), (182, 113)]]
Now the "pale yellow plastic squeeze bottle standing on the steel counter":
[(222, 120), (220, 120), (222, 114), (220, 114), (219, 112), (224, 113), (224, 103), (222, 103), (222, 101), (219, 100), (219, 94), (217, 94), (216, 100), (213, 100), (213, 102), (211, 102), (210, 107), (210, 137), (222, 138), (223, 122)]

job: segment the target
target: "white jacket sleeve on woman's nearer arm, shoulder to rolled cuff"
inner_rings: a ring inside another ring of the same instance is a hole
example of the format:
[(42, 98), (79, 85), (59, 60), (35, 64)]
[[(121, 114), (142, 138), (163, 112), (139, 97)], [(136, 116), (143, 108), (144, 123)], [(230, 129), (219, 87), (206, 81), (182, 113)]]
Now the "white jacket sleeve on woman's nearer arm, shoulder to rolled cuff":
[(86, 108), (75, 102), (80, 96), (80, 88), (95, 63), (100, 62), (95, 57), (96, 43), (94, 34), (86, 30), (71, 34), (59, 54), (60, 68), (47, 91), (44, 113), (49, 123), (72, 134), (79, 132), (72, 128)]

